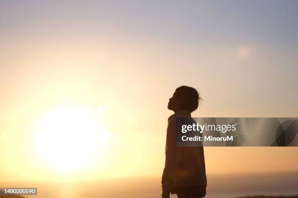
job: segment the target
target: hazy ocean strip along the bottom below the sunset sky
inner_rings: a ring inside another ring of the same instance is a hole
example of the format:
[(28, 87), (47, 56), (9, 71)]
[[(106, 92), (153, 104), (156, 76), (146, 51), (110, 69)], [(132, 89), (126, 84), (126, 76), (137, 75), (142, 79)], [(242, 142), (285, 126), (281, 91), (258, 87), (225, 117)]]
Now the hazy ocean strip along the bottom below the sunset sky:
[[(161, 198), (160, 177), (70, 182), (1, 181), (0, 187), (37, 187), (36, 196), (25, 198)], [(298, 195), (298, 172), (207, 175), (206, 191), (205, 198)]]

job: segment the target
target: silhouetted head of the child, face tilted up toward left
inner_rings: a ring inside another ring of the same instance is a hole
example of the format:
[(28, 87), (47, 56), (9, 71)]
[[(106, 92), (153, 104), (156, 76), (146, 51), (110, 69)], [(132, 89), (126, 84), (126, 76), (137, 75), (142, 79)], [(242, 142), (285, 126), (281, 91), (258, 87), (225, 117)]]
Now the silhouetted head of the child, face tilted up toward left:
[(172, 98), (169, 99), (168, 109), (174, 112), (193, 112), (199, 106), (199, 99), (201, 98), (195, 88), (180, 86), (175, 90)]

